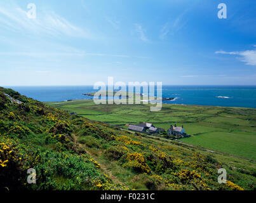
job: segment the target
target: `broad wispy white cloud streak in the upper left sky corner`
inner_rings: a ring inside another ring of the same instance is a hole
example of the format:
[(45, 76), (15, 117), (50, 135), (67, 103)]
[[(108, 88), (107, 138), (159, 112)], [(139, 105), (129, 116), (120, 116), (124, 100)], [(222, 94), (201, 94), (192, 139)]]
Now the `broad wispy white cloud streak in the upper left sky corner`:
[(71, 36), (71, 37), (91, 37), (88, 30), (81, 29), (64, 17), (57, 15), (53, 11), (38, 13), (37, 18), (31, 19), (27, 16), (27, 11), (22, 10), (17, 4), (0, 5), (0, 27), (1, 29), (12, 30), (23, 34), (47, 34), (50, 36)]

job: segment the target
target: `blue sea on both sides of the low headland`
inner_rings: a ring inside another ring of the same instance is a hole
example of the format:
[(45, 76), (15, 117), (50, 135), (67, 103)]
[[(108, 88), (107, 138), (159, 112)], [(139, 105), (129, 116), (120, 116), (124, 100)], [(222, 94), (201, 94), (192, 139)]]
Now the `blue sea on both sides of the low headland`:
[[(39, 101), (91, 99), (83, 93), (93, 86), (12, 86), (22, 95)], [(256, 86), (163, 86), (163, 97), (175, 98), (163, 103), (256, 108)]]

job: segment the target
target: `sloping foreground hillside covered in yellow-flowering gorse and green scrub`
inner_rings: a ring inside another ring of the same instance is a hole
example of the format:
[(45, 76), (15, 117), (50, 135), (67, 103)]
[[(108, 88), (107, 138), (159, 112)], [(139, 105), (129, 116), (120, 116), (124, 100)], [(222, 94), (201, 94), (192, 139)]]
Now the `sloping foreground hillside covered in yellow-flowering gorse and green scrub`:
[[(222, 167), (226, 184), (217, 182)], [(27, 183), (29, 168), (36, 184)], [(71, 116), (0, 88), (1, 189), (253, 190), (255, 174), (254, 162)]]

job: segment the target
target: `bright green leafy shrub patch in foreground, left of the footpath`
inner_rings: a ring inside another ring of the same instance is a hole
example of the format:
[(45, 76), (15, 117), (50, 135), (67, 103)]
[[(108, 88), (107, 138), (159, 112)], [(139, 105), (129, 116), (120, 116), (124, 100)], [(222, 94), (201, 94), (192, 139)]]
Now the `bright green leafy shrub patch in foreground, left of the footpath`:
[(26, 187), (32, 190), (95, 190), (96, 181), (109, 181), (94, 159), (88, 155), (37, 150), (27, 166), (34, 162), (37, 184)]

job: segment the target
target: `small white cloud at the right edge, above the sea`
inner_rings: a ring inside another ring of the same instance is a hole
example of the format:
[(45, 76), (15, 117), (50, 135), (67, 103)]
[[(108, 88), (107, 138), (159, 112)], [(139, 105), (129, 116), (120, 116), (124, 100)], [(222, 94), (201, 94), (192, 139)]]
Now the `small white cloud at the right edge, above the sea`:
[[(255, 46), (255, 45), (254, 45)], [(246, 51), (215, 51), (216, 54), (237, 55), (246, 65), (256, 65), (256, 49)]]

